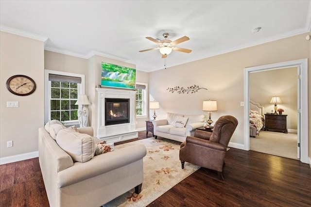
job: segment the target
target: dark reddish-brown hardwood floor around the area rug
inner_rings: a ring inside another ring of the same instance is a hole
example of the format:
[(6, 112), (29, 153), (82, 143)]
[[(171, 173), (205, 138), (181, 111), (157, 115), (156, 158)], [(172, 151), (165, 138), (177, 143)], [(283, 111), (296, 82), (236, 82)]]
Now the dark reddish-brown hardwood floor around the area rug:
[[(146, 138), (144, 131), (138, 135)], [(225, 160), (225, 180), (200, 168), (148, 207), (311, 206), (308, 164), (235, 148)], [(49, 207), (38, 158), (0, 165), (0, 185), (0, 207)]]

